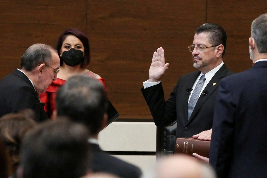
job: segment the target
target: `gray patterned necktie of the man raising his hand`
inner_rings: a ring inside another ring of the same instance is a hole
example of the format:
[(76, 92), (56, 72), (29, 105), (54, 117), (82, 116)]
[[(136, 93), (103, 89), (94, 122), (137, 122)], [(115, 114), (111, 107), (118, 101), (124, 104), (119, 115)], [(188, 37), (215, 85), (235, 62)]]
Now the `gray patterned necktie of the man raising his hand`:
[(202, 75), (200, 77), (200, 79), (198, 80), (198, 83), (196, 84), (196, 87), (193, 91), (193, 94), (189, 100), (189, 103), (188, 103), (188, 113), (187, 113), (187, 120), (189, 120), (195, 106), (196, 106), (196, 102), (198, 101), (198, 96), (199, 96), (199, 93), (201, 91), (201, 89), (203, 88), (203, 85), (204, 85), (204, 82), (205, 82), (206, 78), (205, 78), (205, 75)]

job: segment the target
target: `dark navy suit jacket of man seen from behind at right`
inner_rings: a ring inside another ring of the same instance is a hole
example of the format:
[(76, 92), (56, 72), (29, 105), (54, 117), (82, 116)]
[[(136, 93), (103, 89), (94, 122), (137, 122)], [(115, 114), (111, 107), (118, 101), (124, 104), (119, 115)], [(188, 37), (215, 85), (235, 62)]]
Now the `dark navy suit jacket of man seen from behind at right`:
[(259, 61), (220, 83), (209, 156), (218, 178), (267, 177), (266, 76)]

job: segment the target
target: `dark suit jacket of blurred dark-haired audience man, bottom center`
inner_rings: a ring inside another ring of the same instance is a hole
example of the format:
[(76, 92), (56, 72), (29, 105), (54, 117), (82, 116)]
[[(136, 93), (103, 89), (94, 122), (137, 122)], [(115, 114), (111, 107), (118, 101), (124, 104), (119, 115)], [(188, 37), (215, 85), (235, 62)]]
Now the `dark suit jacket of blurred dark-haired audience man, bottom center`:
[(91, 166), (93, 172), (106, 172), (121, 178), (139, 178), (141, 176), (142, 172), (138, 167), (108, 155), (97, 144), (90, 143), (90, 149), (93, 153)]

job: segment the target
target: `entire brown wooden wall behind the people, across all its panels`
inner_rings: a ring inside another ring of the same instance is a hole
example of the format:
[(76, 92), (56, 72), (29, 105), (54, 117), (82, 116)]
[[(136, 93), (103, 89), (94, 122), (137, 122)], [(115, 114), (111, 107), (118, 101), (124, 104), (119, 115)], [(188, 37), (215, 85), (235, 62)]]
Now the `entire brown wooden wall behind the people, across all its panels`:
[(55, 46), (66, 28), (88, 34), (92, 61), (88, 69), (105, 78), (121, 119), (151, 119), (140, 88), (148, 79), (153, 52), (165, 49), (169, 69), (162, 78), (167, 99), (182, 74), (196, 69), (187, 46), (203, 23), (225, 28), (224, 61), (240, 72), (251, 67), (250, 25), (266, 13), (265, 1), (201, 0), (0, 0), (0, 78), (20, 67), (34, 43)]

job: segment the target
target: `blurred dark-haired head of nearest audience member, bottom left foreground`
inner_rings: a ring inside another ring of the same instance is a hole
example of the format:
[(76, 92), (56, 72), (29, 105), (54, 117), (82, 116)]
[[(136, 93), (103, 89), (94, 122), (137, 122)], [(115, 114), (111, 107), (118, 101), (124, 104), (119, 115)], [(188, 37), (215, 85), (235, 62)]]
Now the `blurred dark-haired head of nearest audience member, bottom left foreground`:
[(23, 170), (23, 177), (85, 176), (90, 156), (88, 136), (84, 125), (64, 118), (38, 125), (26, 134), (22, 142), (19, 169)]

